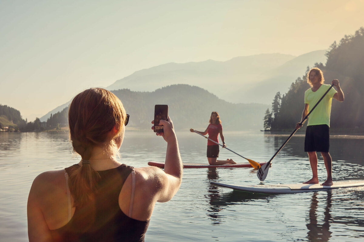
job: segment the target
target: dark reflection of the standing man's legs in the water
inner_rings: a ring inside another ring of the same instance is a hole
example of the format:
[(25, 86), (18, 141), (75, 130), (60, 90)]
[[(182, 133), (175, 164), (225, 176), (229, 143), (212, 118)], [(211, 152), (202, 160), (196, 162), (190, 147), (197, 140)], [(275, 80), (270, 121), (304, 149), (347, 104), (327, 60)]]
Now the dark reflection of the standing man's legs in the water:
[(332, 191), (329, 190), (327, 192), (326, 205), (324, 210), (324, 219), (323, 223), (320, 225), (318, 223), (317, 216), (317, 208), (318, 208), (318, 199), (317, 192), (314, 192), (311, 199), (311, 206), (309, 210), (309, 216), (306, 218), (306, 227), (307, 231), (307, 239), (308, 241), (317, 242), (317, 241), (329, 241), (331, 238), (332, 232), (330, 229), (330, 223), (332, 223), (331, 217), (331, 200), (332, 200)]

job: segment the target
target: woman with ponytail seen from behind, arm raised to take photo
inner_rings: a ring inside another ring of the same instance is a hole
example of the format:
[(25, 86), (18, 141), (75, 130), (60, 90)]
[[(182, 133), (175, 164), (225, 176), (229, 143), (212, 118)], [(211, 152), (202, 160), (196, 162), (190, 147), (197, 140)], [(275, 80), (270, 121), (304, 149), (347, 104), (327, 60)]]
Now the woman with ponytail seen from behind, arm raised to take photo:
[(30, 242), (144, 241), (155, 202), (169, 201), (181, 185), (182, 160), (169, 118), (160, 122), (164, 132), (156, 133), (167, 141), (164, 171), (116, 160), (128, 120), (123, 104), (105, 89), (91, 88), (73, 99), (70, 139), (81, 160), (33, 181)]

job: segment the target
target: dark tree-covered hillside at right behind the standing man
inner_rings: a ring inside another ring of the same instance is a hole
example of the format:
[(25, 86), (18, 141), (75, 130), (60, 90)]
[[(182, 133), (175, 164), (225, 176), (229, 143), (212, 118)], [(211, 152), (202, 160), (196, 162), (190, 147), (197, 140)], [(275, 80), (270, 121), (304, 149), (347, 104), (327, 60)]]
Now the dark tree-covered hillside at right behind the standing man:
[[(361, 27), (354, 35), (345, 35), (339, 42), (330, 46), (326, 53), (326, 65), (315, 63), (324, 73), (325, 83), (331, 84), (333, 79), (339, 79), (344, 91), (343, 103), (333, 101), (330, 127), (359, 128), (364, 130), (364, 28)], [(290, 86), (286, 94), (279, 92), (273, 99), (272, 111), (266, 110), (264, 128), (285, 130), (294, 128), (300, 122), (304, 108), (304, 93), (310, 86), (306, 82), (306, 74)]]

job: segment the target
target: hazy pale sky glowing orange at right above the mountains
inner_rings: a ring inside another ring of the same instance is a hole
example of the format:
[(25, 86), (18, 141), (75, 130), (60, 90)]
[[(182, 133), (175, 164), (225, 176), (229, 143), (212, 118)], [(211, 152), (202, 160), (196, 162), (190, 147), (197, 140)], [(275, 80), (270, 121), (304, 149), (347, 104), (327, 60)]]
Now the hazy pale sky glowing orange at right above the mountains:
[(0, 104), (33, 121), (140, 69), (298, 56), (361, 26), (364, 0), (1, 0)]

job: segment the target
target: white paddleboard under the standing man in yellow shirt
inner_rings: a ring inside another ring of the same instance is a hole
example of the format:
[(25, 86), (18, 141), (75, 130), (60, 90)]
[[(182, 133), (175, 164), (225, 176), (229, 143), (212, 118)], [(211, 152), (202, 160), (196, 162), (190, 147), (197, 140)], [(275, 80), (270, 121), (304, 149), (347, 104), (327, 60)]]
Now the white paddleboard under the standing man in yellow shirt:
[(211, 181), (210, 184), (244, 192), (285, 194), (285, 193), (313, 192), (313, 191), (329, 190), (336, 188), (364, 186), (364, 180), (334, 181), (333, 185), (331, 186), (321, 186), (320, 184), (302, 184), (302, 183), (239, 186), (239, 185), (225, 184), (215, 181)]

